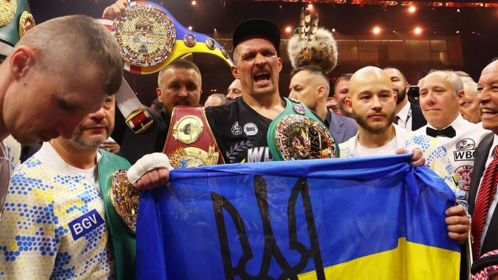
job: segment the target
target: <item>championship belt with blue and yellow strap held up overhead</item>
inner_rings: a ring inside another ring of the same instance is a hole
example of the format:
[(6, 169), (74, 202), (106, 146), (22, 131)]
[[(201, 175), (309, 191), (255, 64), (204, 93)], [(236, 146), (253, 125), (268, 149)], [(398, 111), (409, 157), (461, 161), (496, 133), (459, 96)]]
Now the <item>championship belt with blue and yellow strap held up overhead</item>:
[(123, 18), (102, 18), (101, 22), (118, 40), (124, 69), (131, 73), (157, 72), (176, 58), (192, 52), (214, 54), (233, 66), (227, 51), (218, 42), (185, 28), (154, 2), (131, 2)]

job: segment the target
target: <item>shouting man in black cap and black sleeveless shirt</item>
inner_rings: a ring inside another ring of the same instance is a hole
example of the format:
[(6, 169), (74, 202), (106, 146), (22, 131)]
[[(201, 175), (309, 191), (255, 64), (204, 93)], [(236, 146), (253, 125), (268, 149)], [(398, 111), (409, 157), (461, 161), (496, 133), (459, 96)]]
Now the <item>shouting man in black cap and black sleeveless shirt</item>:
[[(126, 15), (126, 10), (118, 6), (120, 3), (108, 7), (104, 14), (111, 19)], [(226, 163), (270, 161), (266, 132), (271, 121), (285, 108), (285, 101), (278, 92), (282, 69), (278, 48), (280, 29), (270, 20), (250, 19), (236, 27), (233, 39), (236, 66), (232, 67), (232, 73), (241, 81), (244, 97), (230, 104), (206, 108), (206, 119)], [(163, 151), (169, 123), (170, 120), (162, 120), (162, 128), (155, 134), (160, 139), (149, 139), (154, 142), (153, 151)], [(150, 152), (150, 145), (136, 145), (131, 161)]]

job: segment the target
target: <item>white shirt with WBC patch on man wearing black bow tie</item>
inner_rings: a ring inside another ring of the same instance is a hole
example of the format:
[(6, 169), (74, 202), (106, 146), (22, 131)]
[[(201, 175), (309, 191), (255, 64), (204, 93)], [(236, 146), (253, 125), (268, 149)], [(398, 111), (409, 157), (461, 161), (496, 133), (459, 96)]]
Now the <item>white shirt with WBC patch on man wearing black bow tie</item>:
[[(470, 179), (472, 170), (474, 169), (474, 160), (476, 159), (476, 147), (491, 131), (483, 129), (481, 123), (473, 124), (465, 120), (460, 114), (458, 114), (457, 118), (448, 127), (452, 127), (455, 130), (455, 137), (437, 136), (436, 139), (446, 148), (451, 166), (458, 179), (458, 185), (461, 190), (465, 191), (466, 198), (468, 199)], [(437, 130), (427, 123), (426, 126), (421, 127), (417, 132), (426, 134), (427, 128)]]

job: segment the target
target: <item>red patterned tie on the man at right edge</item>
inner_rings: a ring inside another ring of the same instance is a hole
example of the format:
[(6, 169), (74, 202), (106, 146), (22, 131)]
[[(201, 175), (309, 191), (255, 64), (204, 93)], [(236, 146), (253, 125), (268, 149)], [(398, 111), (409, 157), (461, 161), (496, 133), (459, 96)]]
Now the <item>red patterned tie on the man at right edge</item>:
[(481, 245), (481, 237), (483, 234), (484, 223), (486, 216), (490, 210), (491, 203), (495, 196), (498, 184), (498, 145), (494, 149), (494, 158), (488, 168), (484, 172), (481, 187), (477, 193), (476, 206), (474, 207), (474, 214), (472, 215), (472, 236), (474, 242), (472, 243), (472, 253), (474, 260), (479, 258), (479, 247)]

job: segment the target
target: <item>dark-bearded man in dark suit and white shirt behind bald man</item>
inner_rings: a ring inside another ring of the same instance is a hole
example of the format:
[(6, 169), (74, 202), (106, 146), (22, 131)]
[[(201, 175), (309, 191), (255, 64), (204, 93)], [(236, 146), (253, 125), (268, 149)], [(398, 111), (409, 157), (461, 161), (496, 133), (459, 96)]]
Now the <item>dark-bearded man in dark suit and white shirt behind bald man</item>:
[(408, 92), (410, 85), (406, 81), (403, 73), (392, 67), (384, 68), (384, 71), (391, 79), (392, 90), (398, 96), (394, 124), (411, 131), (416, 131), (427, 125), (427, 121), (425, 120), (424, 115), (422, 115), (420, 107), (408, 101), (408, 95), (406, 93)]

